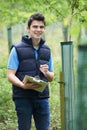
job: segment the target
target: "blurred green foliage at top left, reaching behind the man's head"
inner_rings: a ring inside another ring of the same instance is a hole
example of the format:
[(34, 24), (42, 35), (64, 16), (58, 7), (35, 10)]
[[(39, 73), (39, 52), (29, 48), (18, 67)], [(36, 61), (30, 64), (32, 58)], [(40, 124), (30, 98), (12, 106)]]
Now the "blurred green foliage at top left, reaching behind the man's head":
[[(18, 22), (26, 22), (28, 17), (34, 12), (44, 12), (45, 5), (42, 6), (39, 0), (1, 0), (0, 2), (0, 20), (7, 26), (12, 26)], [(47, 17), (49, 14), (47, 14)], [(48, 21), (50, 21), (48, 19)]]

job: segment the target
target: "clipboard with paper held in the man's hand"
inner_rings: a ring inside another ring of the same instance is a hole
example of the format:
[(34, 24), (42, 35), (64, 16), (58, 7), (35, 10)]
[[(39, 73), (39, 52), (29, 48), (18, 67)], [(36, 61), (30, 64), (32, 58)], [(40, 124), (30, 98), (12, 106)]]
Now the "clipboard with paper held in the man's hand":
[(23, 82), (25, 82), (26, 80), (29, 80), (30, 82), (35, 82), (35, 83), (42, 85), (42, 87), (34, 89), (38, 92), (43, 92), (46, 85), (48, 84), (47, 82), (44, 82), (43, 80), (37, 79), (35, 77), (28, 76), (28, 75), (25, 75)]

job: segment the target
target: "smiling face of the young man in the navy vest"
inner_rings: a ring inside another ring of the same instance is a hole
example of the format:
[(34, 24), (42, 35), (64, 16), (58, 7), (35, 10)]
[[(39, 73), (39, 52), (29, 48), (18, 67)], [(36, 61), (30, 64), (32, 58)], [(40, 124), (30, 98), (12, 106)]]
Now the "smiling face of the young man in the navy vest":
[(45, 31), (45, 25), (42, 21), (34, 20), (28, 29), (31, 38), (40, 39)]

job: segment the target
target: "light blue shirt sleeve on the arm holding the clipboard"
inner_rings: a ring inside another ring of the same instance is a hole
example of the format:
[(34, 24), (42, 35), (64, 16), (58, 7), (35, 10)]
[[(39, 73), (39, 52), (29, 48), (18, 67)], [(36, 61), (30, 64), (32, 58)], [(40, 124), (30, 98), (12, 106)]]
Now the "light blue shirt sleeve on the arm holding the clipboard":
[(18, 55), (17, 55), (15, 47), (13, 47), (9, 56), (7, 67), (8, 69), (17, 70), (18, 66), (19, 66)]

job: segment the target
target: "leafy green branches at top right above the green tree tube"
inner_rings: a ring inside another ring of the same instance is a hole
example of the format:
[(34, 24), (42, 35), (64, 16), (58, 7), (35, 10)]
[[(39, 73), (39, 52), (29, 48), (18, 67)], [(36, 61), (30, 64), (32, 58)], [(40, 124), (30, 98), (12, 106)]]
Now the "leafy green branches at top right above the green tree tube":
[(64, 40), (71, 40), (72, 22), (86, 23), (87, 17), (87, 1), (84, 0), (44, 0), (46, 9), (54, 14), (58, 21), (63, 22), (64, 35), (68, 31), (68, 36)]

